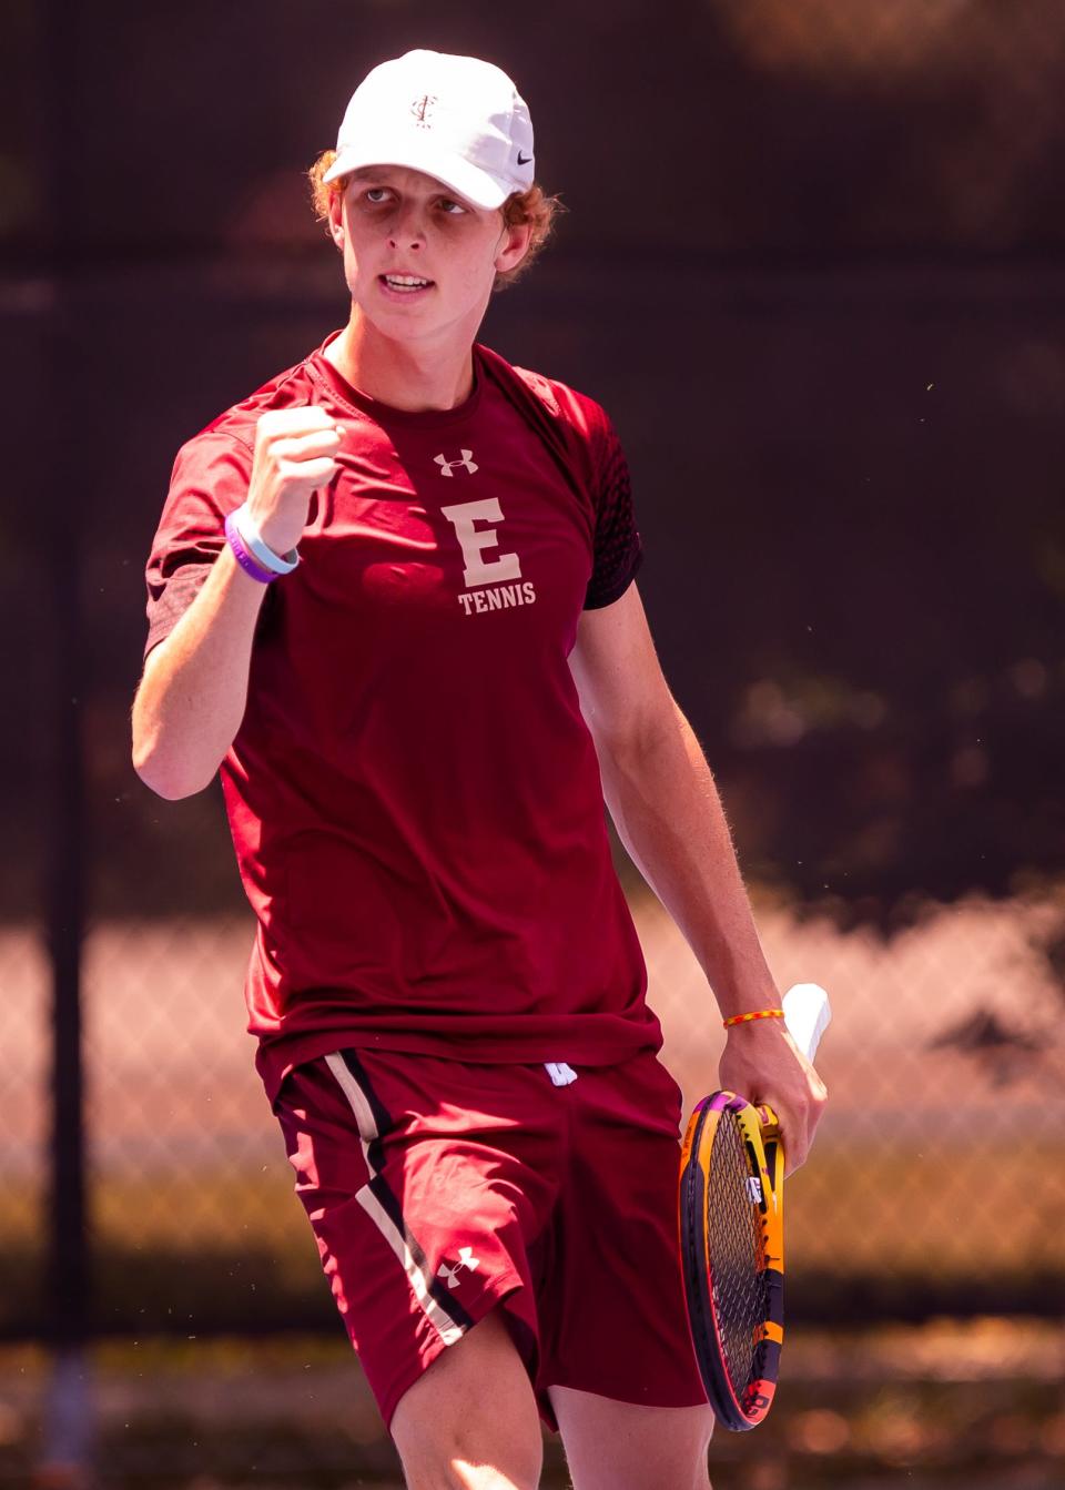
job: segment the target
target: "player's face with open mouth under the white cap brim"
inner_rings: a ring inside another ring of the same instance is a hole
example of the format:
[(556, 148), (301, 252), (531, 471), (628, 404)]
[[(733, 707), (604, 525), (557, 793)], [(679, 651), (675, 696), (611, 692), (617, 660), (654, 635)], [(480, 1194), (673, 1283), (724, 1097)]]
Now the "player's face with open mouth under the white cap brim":
[(331, 201), (329, 226), (353, 302), (398, 340), (472, 343), (496, 273), (521, 261), (532, 235), (401, 165), (355, 171)]

